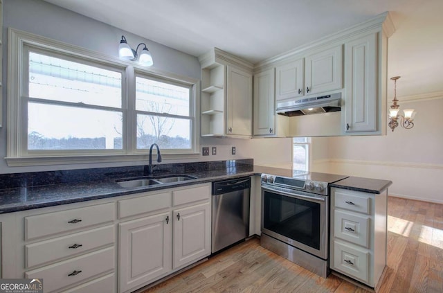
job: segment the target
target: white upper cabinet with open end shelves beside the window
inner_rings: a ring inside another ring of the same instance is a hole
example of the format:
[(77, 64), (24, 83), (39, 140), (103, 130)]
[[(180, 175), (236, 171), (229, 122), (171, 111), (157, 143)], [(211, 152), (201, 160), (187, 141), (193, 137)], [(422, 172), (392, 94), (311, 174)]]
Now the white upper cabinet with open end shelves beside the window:
[(201, 64), (201, 136), (252, 136), (253, 64), (214, 48)]

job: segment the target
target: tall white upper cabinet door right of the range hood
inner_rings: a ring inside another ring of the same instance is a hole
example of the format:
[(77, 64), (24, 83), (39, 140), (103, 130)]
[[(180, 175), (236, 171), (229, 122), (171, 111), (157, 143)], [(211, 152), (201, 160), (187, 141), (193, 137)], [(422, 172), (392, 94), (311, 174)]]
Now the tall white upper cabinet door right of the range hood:
[(377, 34), (345, 44), (345, 132), (377, 131)]

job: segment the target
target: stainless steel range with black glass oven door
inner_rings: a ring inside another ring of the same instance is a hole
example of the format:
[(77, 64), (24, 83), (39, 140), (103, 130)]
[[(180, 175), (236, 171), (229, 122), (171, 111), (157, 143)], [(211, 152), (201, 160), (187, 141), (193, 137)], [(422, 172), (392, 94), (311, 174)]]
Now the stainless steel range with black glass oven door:
[(329, 184), (342, 175), (293, 171), (262, 175), (261, 245), (326, 278), (329, 259)]

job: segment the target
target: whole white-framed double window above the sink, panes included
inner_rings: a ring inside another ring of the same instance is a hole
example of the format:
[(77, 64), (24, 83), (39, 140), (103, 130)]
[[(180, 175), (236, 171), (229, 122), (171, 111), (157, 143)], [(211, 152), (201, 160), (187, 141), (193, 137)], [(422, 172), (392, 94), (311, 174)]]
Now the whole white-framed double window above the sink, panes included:
[(8, 166), (197, 153), (198, 80), (10, 32)]

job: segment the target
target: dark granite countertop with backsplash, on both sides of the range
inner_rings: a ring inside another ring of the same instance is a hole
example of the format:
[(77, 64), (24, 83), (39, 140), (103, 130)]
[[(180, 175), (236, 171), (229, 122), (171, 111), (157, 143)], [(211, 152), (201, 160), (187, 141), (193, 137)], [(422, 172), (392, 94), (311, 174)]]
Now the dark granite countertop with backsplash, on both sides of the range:
[[(291, 168), (254, 166), (252, 159), (165, 164), (161, 167), (161, 170), (154, 173), (153, 177), (186, 174), (196, 179), (136, 188), (123, 188), (116, 183), (116, 179), (142, 177), (143, 166), (0, 175), (0, 186), (3, 186), (0, 189), (0, 214), (261, 175), (262, 173), (284, 177), (292, 177), (293, 175)], [(386, 180), (349, 177), (332, 184), (332, 186), (368, 193), (381, 193), (390, 184), (392, 182)]]

